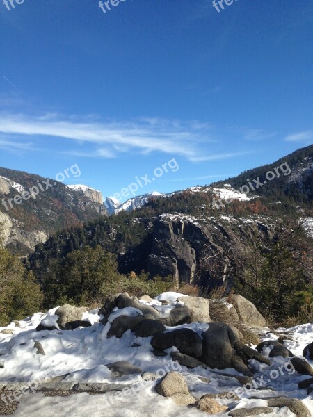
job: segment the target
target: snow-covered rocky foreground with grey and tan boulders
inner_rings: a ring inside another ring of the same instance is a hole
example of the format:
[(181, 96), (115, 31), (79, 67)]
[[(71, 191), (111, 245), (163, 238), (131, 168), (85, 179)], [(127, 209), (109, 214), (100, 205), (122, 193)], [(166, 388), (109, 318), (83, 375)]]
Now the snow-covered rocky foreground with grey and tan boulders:
[(223, 308), (260, 343), (179, 293), (12, 322), (0, 328), (0, 416), (313, 416), (313, 324), (273, 331), (240, 296)]

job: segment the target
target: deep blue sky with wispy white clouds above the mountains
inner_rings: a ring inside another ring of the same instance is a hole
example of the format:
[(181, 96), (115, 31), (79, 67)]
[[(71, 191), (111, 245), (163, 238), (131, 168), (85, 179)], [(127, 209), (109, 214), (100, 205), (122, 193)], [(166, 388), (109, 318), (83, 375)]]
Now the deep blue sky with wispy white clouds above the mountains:
[(0, 19), (0, 166), (77, 164), (66, 183), (106, 196), (175, 158), (140, 190), (166, 193), (313, 142), (312, 0), (1, 0)]

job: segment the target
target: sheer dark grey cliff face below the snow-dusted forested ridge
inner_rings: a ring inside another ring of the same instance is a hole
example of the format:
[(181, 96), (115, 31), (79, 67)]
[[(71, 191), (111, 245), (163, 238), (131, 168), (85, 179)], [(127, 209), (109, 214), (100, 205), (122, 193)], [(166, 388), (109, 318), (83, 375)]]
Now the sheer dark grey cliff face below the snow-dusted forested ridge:
[[(261, 218), (247, 221), (231, 216), (198, 219), (185, 215), (161, 215), (154, 225), (147, 271), (151, 277), (172, 275), (177, 283), (191, 284), (199, 277), (200, 259), (205, 247), (223, 254), (225, 247), (240, 243), (244, 251), (245, 244), (251, 243), (255, 227), (264, 240), (273, 236), (274, 226)], [(225, 264), (225, 268), (230, 267)]]

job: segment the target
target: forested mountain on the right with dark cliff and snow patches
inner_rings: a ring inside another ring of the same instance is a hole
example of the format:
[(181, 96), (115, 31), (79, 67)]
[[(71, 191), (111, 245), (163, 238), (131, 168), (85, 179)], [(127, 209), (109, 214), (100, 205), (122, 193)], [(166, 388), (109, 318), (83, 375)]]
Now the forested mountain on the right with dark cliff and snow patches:
[[(268, 172), (274, 172), (275, 178)], [(263, 185), (252, 190), (247, 181), (256, 186), (263, 181)], [(256, 240), (266, 248), (291, 224), (296, 227), (299, 220), (312, 218), (312, 188), (312, 147), (307, 147), (211, 186), (147, 194), (124, 204), (111, 197), (104, 205), (110, 201), (111, 213), (115, 214), (51, 236), (36, 247), (27, 263), (41, 280), (52, 263), (72, 250), (100, 245), (118, 257), (122, 273), (144, 270), (150, 277), (172, 275), (177, 282), (187, 284), (205, 286), (208, 280), (220, 283), (226, 275), (239, 274)], [(299, 259), (307, 247), (312, 247), (308, 240), (311, 224), (309, 219), (297, 247), (288, 243), (288, 250)], [(236, 251), (229, 253), (230, 248)], [(205, 254), (218, 260), (218, 265), (209, 265), (216, 269), (210, 274), (202, 267)]]

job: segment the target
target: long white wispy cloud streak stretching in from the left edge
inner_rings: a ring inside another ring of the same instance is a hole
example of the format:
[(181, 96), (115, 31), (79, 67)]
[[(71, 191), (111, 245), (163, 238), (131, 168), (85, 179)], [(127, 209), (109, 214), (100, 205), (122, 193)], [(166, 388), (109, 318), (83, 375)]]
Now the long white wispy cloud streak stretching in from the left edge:
[[(29, 117), (0, 115), (0, 132), (6, 135), (47, 136), (95, 145), (92, 152), (77, 150), (77, 156), (112, 158), (120, 152), (150, 154), (164, 152), (185, 156), (191, 161), (202, 155), (201, 142), (214, 142), (209, 126), (198, 122), (142, 119), (127, 122), (78, 122), (56, 114)], [(76, 152), (73, 149), (71, 153)], [(203, 156), (202, 156), (203, 157)], [(207, 158), (210, 158), (208, 156)], [(209, 159), (208, 159), (209, 160)], [(200, 161), (200, 159), (199, 159)]]

